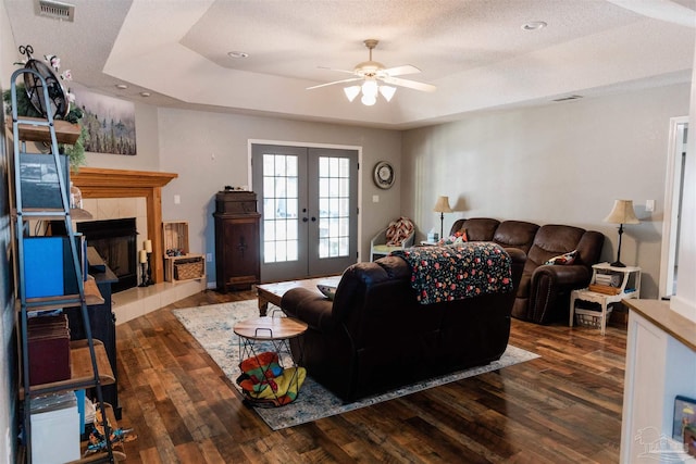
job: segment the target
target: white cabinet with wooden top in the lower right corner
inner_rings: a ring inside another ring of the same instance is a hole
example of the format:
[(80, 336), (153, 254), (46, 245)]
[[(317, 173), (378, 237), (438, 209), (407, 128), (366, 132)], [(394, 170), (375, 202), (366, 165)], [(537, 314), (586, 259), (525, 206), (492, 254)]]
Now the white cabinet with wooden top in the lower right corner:
[(629, 300), (621, 463), (696, 463), (672, 440), (674, 398), (696, 398), (696, 323), (657, 300)]

